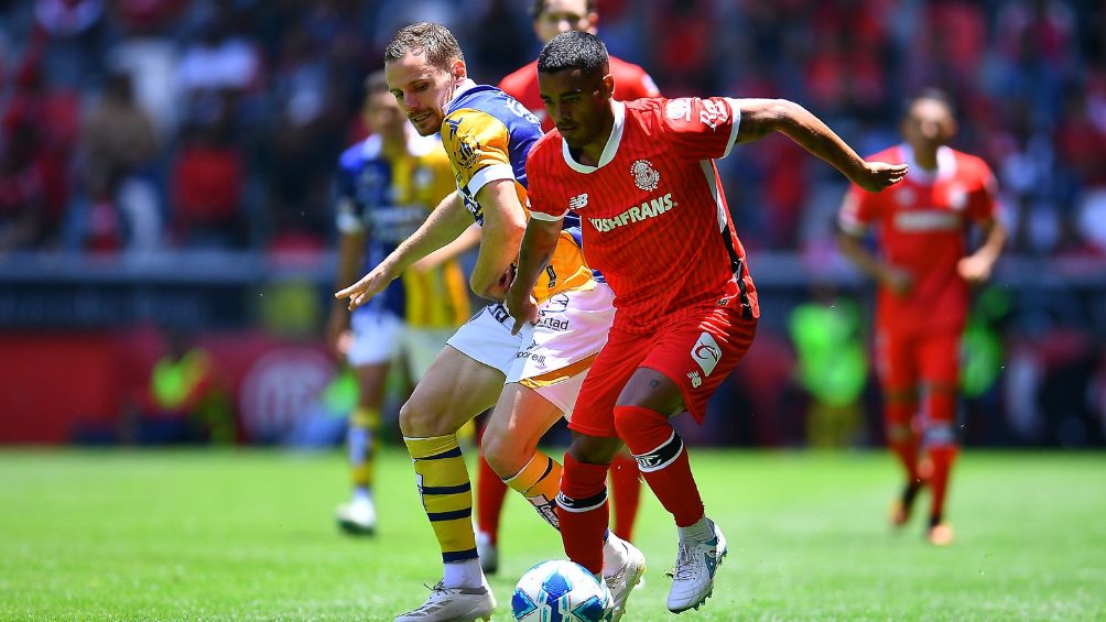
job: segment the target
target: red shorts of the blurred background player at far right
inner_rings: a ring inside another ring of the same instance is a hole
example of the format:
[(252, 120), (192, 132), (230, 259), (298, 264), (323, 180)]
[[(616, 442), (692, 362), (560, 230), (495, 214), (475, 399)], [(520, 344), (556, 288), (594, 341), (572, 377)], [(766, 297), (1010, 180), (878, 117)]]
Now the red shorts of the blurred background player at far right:
[(884, 389), (953, 384), (960, 379), (960, 328), (876, 334), (876, 367)]

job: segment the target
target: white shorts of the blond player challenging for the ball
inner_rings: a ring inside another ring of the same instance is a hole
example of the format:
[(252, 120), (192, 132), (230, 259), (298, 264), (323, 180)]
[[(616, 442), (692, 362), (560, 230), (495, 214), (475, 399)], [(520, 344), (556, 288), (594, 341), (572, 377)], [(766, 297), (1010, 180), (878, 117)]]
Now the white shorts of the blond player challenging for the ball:
[(607, 341), (614, 293), (605, 283), (562, 292), (538, 307), (536, 326), (511, 335), (514, 320), (503, 305), (480, 310), (449, 339), (465, 356), (503, 372), (505, 381), (538, 391), (572, 413), (587, 368)]

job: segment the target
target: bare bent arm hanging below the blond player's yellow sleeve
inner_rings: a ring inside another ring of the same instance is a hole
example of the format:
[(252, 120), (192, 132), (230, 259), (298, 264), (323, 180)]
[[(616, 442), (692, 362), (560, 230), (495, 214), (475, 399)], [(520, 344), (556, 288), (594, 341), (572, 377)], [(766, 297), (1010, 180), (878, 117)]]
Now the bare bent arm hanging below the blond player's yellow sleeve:
[(483, 239), (469, 284), (476, 295), (502, 301), (511, 285), (511, 264), (522, 243), (526, 214), (513, 179), (489, 181), (477, 192), (477, 201), (484, 214)]

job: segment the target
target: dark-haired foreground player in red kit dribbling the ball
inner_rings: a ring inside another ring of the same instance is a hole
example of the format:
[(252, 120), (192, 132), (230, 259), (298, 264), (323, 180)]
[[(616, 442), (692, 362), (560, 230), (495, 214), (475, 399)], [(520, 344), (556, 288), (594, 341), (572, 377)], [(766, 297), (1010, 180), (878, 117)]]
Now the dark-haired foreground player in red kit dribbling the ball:
[(588, 265), (606, 275), (617, 309), (568, 425), (561, 536), (573, 561), (602, 570), (604, 481), (625, 441), (679, 530), (668, 594), (668, 609), (678, 613), (710, 595), (727, 545), (706, 517), (668, 419), (686, 409), (702, 421), (707, 399), (748, 350), (760, 315), (713, 159), (737, 143), (781, 131), (870, 190), (897, 182), (906, 167), (864, 161), (791, 102), (614, 101), (606, 49), (588, 33), (555, 36), (538, 71), (556, 130), (528, 158), (532, 218), (508, 308), (517, 329), (536, 318), (528, 287), (544, 272), (572, 209)]

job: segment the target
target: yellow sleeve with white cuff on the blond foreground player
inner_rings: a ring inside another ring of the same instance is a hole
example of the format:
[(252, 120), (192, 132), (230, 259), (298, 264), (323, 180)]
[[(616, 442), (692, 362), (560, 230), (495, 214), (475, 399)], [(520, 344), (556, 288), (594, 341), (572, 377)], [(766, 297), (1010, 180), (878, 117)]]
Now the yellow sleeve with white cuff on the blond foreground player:
[(503, 122), (471, 108), (453, 110), (442, 124), (441, 141), (457, 175), (457, 182), (473, 199), (486, 185), (514, 179)]

